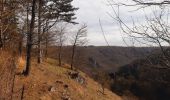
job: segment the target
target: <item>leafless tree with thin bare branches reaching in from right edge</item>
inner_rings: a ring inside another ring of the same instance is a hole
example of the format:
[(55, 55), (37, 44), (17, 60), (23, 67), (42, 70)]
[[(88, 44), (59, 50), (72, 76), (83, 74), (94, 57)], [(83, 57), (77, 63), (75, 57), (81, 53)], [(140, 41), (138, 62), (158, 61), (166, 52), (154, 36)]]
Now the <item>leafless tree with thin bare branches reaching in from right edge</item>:
[[(170, 44), (169, 11), (167, 8), (167, 5), (169, 5), (170, 2), (166, 0), (157, 2), (149, 0), (132, 0), (132, 2), (128, 4), (122, 2), (115, 4), (113, 3), (113, 0), (110, 0), (109, 4), (112, 7), (116, 18), (112, 15), (110, 16), (119, 22), (121, 30), (137, 42), (146, 45), (151, 43), (159, 46), (163, 55), (162, 60), (165, 64), (165, 67), (163, 68), (169, 69), (169, 57), (166, 55), (163, 45)], [(115, 6), (118, 8), (117, 11), (115, 10)], [(157, 7), (157, 9), (152, 10), (149, 15), (143, 12), (145, 14), (143, 23), (138, 23), (135, 21), (135, 18), (132, 18), (132, 25), (129, 25), (121, 18), (119, 10), (121, 6), (135, 7), (134, 11), (139, 11), (152, 6)]]

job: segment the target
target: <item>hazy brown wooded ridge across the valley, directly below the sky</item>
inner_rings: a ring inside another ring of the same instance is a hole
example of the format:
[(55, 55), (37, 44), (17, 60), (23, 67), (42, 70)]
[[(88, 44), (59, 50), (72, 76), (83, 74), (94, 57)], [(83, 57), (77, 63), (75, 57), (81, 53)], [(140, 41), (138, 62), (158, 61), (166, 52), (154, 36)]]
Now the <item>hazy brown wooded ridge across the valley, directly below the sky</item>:
[[(91, 75), (94, 70), (105, 72), (115, 72), (120, 66), (143, 58), (158, 48), (150, 47), (116, 47), (116, 46), (86, 46), (77, 47), (78, 57), (76, 57), (75, 67)], [(63, 48), (63, 60), (70, 63), (69, 59), (71, 47)], [(57, 47), (49, 49), (49, 57), (58, 59)]]

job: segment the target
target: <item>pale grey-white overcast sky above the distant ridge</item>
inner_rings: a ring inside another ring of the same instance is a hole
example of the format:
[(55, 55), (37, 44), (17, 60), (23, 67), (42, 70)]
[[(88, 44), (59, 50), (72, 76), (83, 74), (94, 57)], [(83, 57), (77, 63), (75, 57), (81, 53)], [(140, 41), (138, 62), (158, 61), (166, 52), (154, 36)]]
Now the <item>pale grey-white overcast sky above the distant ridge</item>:
[[(107, 45), (101, 28), (99, 24), (99, 19), (101, 20), (105, 36), (110, 45), (113, 46), (131, 46), (131, 42), (128, 42), (127, 36), (120, 31), (119, 25), (117, 22), (109, 16), (109, 14), (114, 16), (114, 12), (110, 6), (108, 6), (108, 0), (74, 0), (73, 5), (78, 7), (79, 10), (76, 13), (77, 22), (86, 23), (88, 26), (88, 39), (89, 45), (103, 46)], [(132, 0), (113, 0), (114, 3), (123, 2), (133, 4)], [(161, 0), (148, 0), (151, 1), (161, 1)], [(138, 7), (120, 7), (119, 14), (123, 22), (128, 26), (133, 24), (133, 20), (137, 22), (136, 24), (144, 24), (145, 17), (152, 16), (152, 11), (160, 11), (160, 8), (157, 6), (147, 7), (141, 10), (137, 10)], [(117, 9), (116, 7), (114, 8)], [(108, 14), (109, 13), (109, 14)], [(126, 44), (123, 42), (123, 39), (126, 40)], [(141, 44), (137, 43), (137, 46)], [(142, 44), (143, 45), (143, 44)]]

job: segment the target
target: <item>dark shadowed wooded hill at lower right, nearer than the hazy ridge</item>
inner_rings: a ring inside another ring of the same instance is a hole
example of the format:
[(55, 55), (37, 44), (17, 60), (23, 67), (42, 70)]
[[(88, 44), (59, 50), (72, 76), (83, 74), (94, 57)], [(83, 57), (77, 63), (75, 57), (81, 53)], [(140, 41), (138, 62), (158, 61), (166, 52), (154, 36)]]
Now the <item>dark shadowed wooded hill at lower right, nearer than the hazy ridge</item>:
[[(155, 52), (120, 67), (112, 90), (119, 94), (132, 92), (142, 100), (170, 100), (170, 49)], [(166, 64), (165, 64), (166, 63)]]

